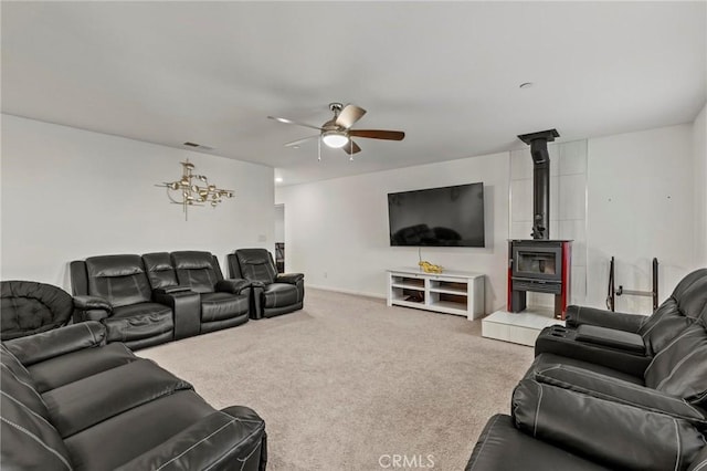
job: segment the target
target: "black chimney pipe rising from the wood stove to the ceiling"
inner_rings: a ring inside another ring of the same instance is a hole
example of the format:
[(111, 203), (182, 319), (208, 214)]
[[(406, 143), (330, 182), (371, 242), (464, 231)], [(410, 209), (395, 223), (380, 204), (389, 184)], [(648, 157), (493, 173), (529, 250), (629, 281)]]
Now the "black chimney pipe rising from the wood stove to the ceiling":
[(550, 155), (548, 143), (560, 137), (557, 129), (521, 134), (532, 157), (532, 239), (550, 239)]

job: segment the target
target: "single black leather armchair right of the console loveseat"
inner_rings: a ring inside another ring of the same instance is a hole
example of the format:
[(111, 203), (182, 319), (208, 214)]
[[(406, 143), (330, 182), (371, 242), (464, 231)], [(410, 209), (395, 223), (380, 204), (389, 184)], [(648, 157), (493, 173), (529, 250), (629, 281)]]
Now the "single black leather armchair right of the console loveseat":
[(277, 273), (273, 254), (265, 249), (239, 249), (228, 255), (230, 278), (245, 279), (253, 286), (253, 318), (273, 317), (300, 310), (305, 275)]

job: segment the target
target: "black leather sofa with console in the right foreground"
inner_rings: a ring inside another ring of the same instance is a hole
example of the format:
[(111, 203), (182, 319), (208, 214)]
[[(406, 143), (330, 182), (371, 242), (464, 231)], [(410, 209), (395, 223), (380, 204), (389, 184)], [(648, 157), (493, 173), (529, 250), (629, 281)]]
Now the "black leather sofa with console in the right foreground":
[(466, 469), (707, 469), (707, 270), (650, 317), (568, 312), (568, 327), (538, 337), (511, 417), (489, 420)]

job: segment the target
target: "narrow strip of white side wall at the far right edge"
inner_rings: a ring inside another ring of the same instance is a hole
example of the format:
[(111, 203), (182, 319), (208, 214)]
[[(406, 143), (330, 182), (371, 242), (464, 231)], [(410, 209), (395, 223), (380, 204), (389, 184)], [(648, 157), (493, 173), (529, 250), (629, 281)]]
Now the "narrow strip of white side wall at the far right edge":
[(707, 266), (707, 104), (693, 124), (695, 153), (695, 265)]

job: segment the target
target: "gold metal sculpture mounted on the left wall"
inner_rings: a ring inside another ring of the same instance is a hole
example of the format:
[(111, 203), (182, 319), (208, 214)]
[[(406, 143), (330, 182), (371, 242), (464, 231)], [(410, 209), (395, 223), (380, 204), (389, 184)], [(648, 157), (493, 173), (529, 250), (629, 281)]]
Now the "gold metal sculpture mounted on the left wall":
[[(190, 206), (211, 205), (212, 208), (215, 208), (222, 201), (222, 198), (233, 198), (233, 190), (224, 190), (217, 188), (215, 185), (210, 185), (205, 175), (193, 175), (194, 165), (189, 159), (180, 164), (182, 165), (181, 179), (156, 186), (167, 188), (167, 198), (172, 203), (182, 206), (184, 220), (188, 219), (188, 208)], [(203, 186), (194, 184), (192, 181), (194, 178), (201, 181)], [(177, 198), (172, 196), (172, 192), (178, 192)]]

